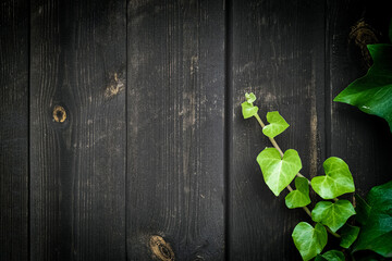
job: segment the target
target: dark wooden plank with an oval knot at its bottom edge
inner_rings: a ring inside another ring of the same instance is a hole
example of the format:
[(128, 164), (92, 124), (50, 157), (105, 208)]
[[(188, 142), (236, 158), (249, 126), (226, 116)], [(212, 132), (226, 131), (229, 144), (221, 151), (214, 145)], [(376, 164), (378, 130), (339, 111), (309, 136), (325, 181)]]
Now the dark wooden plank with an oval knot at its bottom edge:
[(222, 260), (222, 1), (130, 1), (127, 47), (128, 260)]

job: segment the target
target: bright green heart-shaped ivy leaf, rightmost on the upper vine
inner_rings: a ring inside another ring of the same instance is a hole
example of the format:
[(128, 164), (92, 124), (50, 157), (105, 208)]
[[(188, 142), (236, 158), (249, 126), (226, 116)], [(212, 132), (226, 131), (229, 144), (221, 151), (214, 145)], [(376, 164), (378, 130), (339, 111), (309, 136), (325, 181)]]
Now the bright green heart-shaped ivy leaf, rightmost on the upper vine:
[(322, 164), (326, 176), (311, 179), (311, 187), (323, 199), (333, 199), (346, 192), (354, 192), (354, 181), (348, 165), (336, 157), (328, 158)]

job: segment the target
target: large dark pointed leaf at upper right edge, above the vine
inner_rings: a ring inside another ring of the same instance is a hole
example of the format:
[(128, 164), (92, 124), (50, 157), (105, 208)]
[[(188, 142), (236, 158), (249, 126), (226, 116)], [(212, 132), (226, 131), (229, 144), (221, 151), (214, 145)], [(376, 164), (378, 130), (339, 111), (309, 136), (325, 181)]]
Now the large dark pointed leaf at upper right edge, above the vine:
[(367, 46), (373, 65), (367, 74), (354, 80), (334, 101), (348, 103), (359, 110), (387, 120), (392, 132), (392, 45)]

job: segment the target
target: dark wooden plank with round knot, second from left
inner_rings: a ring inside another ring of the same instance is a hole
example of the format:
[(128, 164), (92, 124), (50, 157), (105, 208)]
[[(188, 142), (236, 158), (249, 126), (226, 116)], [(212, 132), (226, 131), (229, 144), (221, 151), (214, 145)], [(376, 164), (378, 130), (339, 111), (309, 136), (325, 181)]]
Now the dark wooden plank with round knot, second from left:
[(33, 260), (125, 259), (125, 1), (33, 1)]

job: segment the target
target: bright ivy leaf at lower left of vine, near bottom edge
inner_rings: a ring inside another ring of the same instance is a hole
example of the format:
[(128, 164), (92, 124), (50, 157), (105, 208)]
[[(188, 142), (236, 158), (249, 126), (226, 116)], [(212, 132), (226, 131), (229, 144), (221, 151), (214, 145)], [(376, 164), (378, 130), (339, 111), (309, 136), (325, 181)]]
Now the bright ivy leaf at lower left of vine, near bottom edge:
[(310, 224), (301, 222), (295, 226), (292, 237), (305, 261), (320, 253), (328, 240), (327, 229), (320, 223), (317, 223), (314, 228)]

